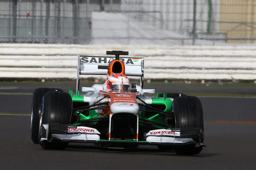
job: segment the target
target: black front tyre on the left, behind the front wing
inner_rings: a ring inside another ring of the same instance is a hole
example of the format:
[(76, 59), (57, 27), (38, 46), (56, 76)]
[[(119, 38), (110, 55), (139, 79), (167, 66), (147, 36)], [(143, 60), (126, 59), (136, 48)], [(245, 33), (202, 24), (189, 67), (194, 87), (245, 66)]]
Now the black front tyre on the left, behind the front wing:
[[(72, 115), (72, 98), (69, 93), (49, 91), (44, 95), (42, 103), (43, 109), (40, 114), (40, 125), (70, 124)], [(68, 142), (40, 141), (40, 145), (44, 149), (65, 149)]]

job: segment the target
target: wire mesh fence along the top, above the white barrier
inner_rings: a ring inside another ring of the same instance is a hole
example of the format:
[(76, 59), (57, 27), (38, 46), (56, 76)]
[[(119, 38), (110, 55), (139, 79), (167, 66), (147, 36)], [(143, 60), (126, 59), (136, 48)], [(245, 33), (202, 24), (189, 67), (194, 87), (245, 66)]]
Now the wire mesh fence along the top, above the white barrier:
[(2, 0), (0, 42), (255, 43), (255, 0)]

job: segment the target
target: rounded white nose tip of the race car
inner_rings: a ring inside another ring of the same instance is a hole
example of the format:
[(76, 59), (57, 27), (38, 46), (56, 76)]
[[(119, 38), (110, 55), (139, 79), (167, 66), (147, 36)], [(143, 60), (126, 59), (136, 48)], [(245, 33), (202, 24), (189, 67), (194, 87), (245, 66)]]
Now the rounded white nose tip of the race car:
[(135, 103), (113, 103), (110, 106), (111, 112), (114, 113), (133, 113), (139, 112), (139, 105)]

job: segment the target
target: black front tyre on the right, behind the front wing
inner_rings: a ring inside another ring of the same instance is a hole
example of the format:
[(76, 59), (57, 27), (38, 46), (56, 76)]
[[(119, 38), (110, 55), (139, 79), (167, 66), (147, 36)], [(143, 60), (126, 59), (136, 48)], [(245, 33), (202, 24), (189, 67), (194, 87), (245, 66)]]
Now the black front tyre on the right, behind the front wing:
[[(203, 109), (200, 100), (196, 96), (175, 98), (172, 109), (175, 115), (175, 127), (201, 129), (201, 143), (203, 143)], [(202, 145), (199, 147), (175, 145), (174, 150), (178, 155), (196, 155), (201, 152)]]

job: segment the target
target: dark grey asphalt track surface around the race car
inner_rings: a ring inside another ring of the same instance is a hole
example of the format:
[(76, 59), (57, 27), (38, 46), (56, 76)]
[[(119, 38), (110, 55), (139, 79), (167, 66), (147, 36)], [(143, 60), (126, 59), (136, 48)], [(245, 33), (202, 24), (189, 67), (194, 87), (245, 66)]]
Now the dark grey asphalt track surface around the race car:
[[(1, 92), (32, 92), (36, 86), (2, 86)], [(60, 87), (61, 88), (61, 87)], [(65, 91), (66, 88), (62, 87)], [(163, 87), (160, 87), (161, 90)], [(173, 87), (194, 92), (201, 87)], [(169, 88), (166, 88), (169, 89)], [(193, 91), (194, 90), (194, 91)], [(204, 89), (219, 92), (223, 89)], [(229, 89), (230, 90), (230, 89)], [(236, 91), (237, 90), (237, 91)], [(254, 93), (255, 88), (233, 88)], [(30, 140), (30, 94), (0, 94), (0, 169), (255, 169), (256, 99), (200, 98), (204, 111), (205, 144), (196, 156), (141, 145), (137, 150), (100, 149), (93, 144), (70, 144), (65, 150), (44, 150)], [(215, 122), (217, 120), (221, 120)], [(226, 122), (224, 121), (226, 120)], [(239, 122), (230, 122), (230, 121)]]

